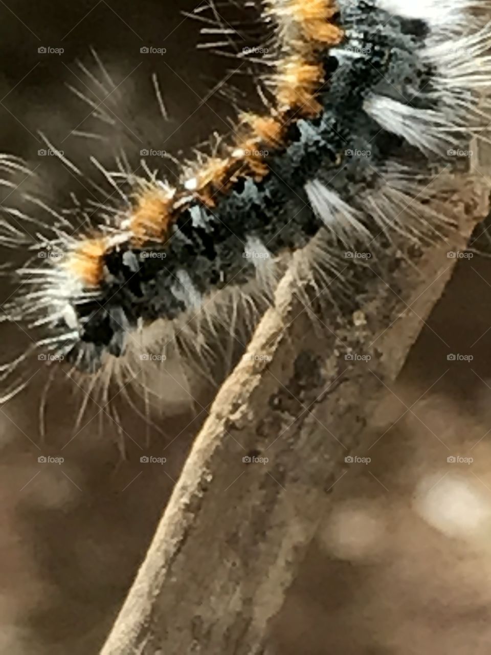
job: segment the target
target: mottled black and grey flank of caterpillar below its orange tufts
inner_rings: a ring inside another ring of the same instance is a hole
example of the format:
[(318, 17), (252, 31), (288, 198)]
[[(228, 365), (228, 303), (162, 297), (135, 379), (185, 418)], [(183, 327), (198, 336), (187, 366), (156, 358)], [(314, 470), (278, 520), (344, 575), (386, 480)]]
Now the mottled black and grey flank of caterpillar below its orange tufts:
[[(240, 179), (213, 209), (192, 201), (164, 248), (139, 250), (126, 243), (107, 253), (105, 280), (110, 281), (101, 285), (98, 303), (79, 307), (82, 343), (69, 358), (93, 369), (105, 350), (120, 356), (128, 331), (139, 324), (173, 320), (189, 310), (189, 288), (199, 299), (230, 282), (246, 284), (255, 271), (255, 261), (245, 257), (251, 238), (272, 257), (302, 248), (325, 225), (305, 190), (316, 176), (332, 181), (331, 188), (349, 203), (361, 189), (376, 185), (374, 169), (397, 155), (403, 141), (380, 130), (363, 112), (363, 102), (371, 92), (414, 94), (426, 84), (429, 67), (416, 53), (427, 28), (367, 2), (348, 3), (339, 20), (346, 41), (335, 54), (321, 56), (327, 80), (319, 91), (321, 115), (298, 119), (293, 113), (284, 147), (265, 157), (266, 178)], [(359, 158), (350, 156), (367, 150), (374, 168), (361, 167)]]

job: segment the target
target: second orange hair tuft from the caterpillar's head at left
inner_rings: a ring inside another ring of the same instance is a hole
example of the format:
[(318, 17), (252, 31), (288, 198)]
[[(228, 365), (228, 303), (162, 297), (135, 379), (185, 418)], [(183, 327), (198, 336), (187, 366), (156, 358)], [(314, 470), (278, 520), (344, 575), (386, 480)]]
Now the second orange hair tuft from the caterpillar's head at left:
[(130, 230), (139, 245), (166, 238), (173, 221), (173, 190), (151, 186), (137, 196), (130, 216)]

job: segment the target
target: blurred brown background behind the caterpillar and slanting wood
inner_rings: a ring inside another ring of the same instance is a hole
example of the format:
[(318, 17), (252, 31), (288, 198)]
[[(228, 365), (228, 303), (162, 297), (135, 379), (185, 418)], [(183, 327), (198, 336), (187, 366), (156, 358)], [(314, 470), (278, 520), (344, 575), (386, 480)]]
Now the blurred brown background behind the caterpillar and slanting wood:
[[(4, 190), (4, 206), (23, 209), (29, 193), (56, 207), (68, 206), (70, 193), (99, 198), (91, 156), (109, 168), (118, 148), (135, 168), (142, 150), (192, 157), (213, 132), (227, 134), (236, 105), (257, 103), (251, 71), (259, 65), (198, 48), (223, 37), (200, 36), (201, 26), (213, 29), (213, 14), (200, 12), (200, 23), (183, 13), (194, 9), (184, 0), (0, 3), (0, 151), (35, 170)], [(240, 20), (239, 50), (267, 39), (252, 9), (219, 11), (227, 24)], [(39, 132), (86, 178), (43, 154)], [(170, 159), (147, 161), (172, 180)], [(3, 285), (3, 299), (13, 290)], [(489, 259), (462, 259), (368, 428), (372, 445), (357, 453), (365, 461), (350, 464), (333, 489), (273, 626), (279, 655), (489, 652), (490, 292)], [(18, 326), (2, 329), (6, 361), (29, 339)], [(58, 381), (43, 436), (47, 372), (33, 368), (29, 389), (0, 407), (0, 652), (96, 654), (214, 390), (173, 405), (155, 426), (124, 403), (115, 422), (91, 402), (74, 429), (84, 392)], [(143, 455), (166, 463), (141, 463)], [(48, 456), (64, 462), (39, 462)]]

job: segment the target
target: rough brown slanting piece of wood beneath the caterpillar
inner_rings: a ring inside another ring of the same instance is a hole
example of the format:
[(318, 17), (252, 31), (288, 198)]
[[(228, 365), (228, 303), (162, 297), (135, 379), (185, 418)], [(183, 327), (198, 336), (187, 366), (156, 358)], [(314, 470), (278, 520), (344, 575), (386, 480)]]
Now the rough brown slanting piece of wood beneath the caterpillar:
[[(482, 169), (481, 169), (482, 170)], [(484, 178), (456, 180), (445, 241), (388, 253), (357, 311), (334, 308), (314, 329), (283, 278), (245, 356), (196, 438), (103, 655), (271, 652), (282, 607), (347, 455), (399, 373), (424, 320), (487, 212)], [(412, 260), (412, 261), (411, 261)], [(371, 360), (346, 360), (353, 352)], [(266, 464), (244, 457), (268, 458)]]

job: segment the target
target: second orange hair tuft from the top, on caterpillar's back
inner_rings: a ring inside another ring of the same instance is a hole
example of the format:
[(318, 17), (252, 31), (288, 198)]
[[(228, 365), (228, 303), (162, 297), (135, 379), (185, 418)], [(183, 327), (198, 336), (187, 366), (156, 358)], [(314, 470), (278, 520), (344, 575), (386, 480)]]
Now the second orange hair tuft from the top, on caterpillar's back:
[(315, 116), (322, 110), (316, 95), (324, 82), (321, 64), (309, 64), (301, 56), (282, 60), (274, 76), (280, 108), (297, 109), (301, 115)]

